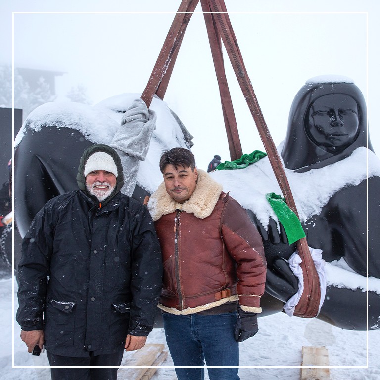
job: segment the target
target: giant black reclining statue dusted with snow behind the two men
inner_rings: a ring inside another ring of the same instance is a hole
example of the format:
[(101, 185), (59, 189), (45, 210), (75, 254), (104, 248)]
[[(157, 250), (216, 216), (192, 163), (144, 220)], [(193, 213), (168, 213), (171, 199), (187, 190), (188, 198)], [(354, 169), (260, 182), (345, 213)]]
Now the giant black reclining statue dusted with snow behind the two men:
[[(110, 141), (134, 96), (116, 96), (94, 107), (71, 104), (64, 108), (50, 103), (37, 108), (28, 117), (17, 137), (14, 162), (15, 219), (21, 236), (25, 235), (34, 215), (48, 199), (76, 188), (77, 165), (84, 149), (92, 143)], [(140, 164), (133, 194), (133, 197), (140, 200), (155, 190), (162, 181), (157, 165), (161, 151), (174, 146), (191, 146), (191, 136), (164, 102), (155, 98), (151, 107), (158, 114), (157, 130), (153, 133), (147, 157)], [(362, 160), (363, 152), (366, 153), (365, 110), (363, 96), (352, 83), (310, 83), (300, 90), (290, 111), (288, 132), (282, 150), (285, 167), (291, 169), (287, 170), (291, 174), (291, 186), (293, 177), (299, 173), (303, 176), (303, 187), (315, 187), (316, 184), (307, 182), (308, 173), (316, 172), (311, 169), (318, 169), (324, 174), (331, 174), (335, 170), (332, 164), (339, 165), (337, 170), (347, 171), (347, 177), (350, 177), (350, 163), (356, 159)], [(337, 121), (336, 115), (340, 121)], [(92, 128), (93, 124), (102, 125), (101, 131)], [(332, 128), (332, 124), (336, 126)], [(372, 149), (371, 146), (369, 148)], [(369, 273), (375, 281), (380, 282), (380, 255), (375, 253), (380, 248), (377, 218), (379, 201), (375, 197), (380, 189), (380, 164), (374, 153), (370, 153), (371, 166), (375, 165), (376, 168), (370, 170), (369, 180), (370, 204), (373, 202), (369, 214)], [(256, 170), (255, 166), (259, 167), (254, 174), (257, 183), (266, 182), (267, 175), (273, 176), (272, 169), (265, 160), (246, 169), (214, 172), (212, 175), (225, 185), (225, 190), (231, 190), (232, 196), (244, 206), (244, 201), (234, 193), (234, 187), (244, 182), (250, 172)], [(345, 168), (345, 160), (348, 168)], [(366, 179), (359, 173), (361, 171), (361, 168), (356, 168), (353, 174), (355, 178), (341, 180), (335, 185), (332, 193), (328, 194), (328, 200), (319, 209), (301, 212), (309, 246), (322, 249), (323, 258), (327, 262), (344, 258), (345, 263), (339, 261), (336, 267), (345, 271), (344, 274), (352, 273), (360, 281), (366, 275), (367, 252)], [(344, 181), (344, 185), (341, 185)], [(275, 192), (276, 185), (270, 185), (268, 192)], [(251, 190), (246, 187), (243, 194), (245, 200), (251, 198), (258, 203), (266, 202), (265, 197), (260, 199), (257, 193), (251, 195)], [(296, 195), (297, 191), (297, 203)], [(308, 203), (307, 200), (303, 201)], [(295, 244), (287, 244), (284, 230), (281, 225), (277, 225), (275, 218), (268, 214), (267, 220), (262, 220), (257, 208), (249, 201), (244, 207), (259, 227), (268, 260), (267, 290), (262, 299), (262, 315), (279, 312), (298, 288), (297, 279), (286, 262), (295, 251)], [(342, 286), (345, 285), (328, 282), (319, 318), (346, 329), (365, 329), (366, 293), (361, 288)], [(370, 291), (369, 296), (370, 328), (378, 328), (380, 294)]]

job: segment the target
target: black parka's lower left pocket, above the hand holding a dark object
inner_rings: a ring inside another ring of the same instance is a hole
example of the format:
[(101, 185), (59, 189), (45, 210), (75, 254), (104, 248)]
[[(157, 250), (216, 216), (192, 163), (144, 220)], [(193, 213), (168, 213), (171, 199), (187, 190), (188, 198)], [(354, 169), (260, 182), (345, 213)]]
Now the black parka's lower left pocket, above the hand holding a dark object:
[(69, 347), (74, 344), (75, 302), (48, 300), (45, 311), (47, 347)]

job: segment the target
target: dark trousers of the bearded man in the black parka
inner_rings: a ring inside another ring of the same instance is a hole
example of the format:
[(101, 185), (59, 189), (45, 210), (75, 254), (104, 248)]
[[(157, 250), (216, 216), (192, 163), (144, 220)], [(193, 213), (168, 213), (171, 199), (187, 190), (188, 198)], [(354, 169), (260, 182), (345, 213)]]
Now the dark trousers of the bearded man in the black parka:
[[(110, 355), (94, 356), (89, 352), (85, 358), (54, 355), (49, 352), (47, 358), (50, 366), (62, 366), (65, 368), (50, 368), (51, 380), (116, 380), (117, 368), (99, 368), (106, 366), (119, 367), (123, 359), (124, 351)], [(67, 367), (89, 368), (67, 368)], [(94, 367), (94, 368), (92, 368)]]

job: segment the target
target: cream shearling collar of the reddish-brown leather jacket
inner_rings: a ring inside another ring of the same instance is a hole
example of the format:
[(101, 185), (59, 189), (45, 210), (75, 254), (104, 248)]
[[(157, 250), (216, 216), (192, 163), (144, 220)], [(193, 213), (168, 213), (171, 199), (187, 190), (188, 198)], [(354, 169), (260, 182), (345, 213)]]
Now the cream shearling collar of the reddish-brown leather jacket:
[(148, 209), (153, 221), (176, 210), (185, 211), (188, 214), (194, 214), (199, 219), (204, 219), (211, 215), (222, 190), (223, 185), (214, 181), (205, 171), (198, 169), (195, 190), (186, 202), (176, 202), (166, 192), (165, 183), (162, 182), (150, 197)]

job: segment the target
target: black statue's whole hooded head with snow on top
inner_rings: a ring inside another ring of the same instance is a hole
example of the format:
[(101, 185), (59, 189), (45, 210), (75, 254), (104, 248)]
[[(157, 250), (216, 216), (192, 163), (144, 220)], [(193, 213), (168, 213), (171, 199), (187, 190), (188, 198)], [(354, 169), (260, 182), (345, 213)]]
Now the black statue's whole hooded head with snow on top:
[[(328, 108), (331, 114), (327, 116), (328, 123), (325, 119), (325, 131), (321, 132), (323, 128), (318, 127), (314, 116), (319, 111), (327, 114)], [(339, 113), (342, 110), (340, 125), (336, 127), (332, 126), (333, 109), (339, 109)], [(346, 115), (345, 109), (349, 109)], [(354, 118), (354, 122), (349, 121), (350, 118)], [(351, 135), (348, 135), (350, 128)], [(281, 152), (285, 167), (297, 172), (321, 168), (350, 156), (360, 146), (367, 147), (367, 110), (359, 88), (345, 77), (309, 79), (295, 95), (290, 108)], [(373, 150), (370, 140), (368, 148)]]

